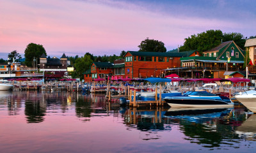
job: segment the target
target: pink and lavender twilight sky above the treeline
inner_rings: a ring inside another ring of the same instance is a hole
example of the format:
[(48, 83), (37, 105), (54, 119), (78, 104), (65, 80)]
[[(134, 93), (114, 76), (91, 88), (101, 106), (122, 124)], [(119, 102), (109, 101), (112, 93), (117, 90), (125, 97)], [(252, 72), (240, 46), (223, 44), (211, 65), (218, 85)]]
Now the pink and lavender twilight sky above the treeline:
[(254, 0), (0, 0), (0, 58), (29, 43), (47, 55), (120, 55), (146, 38), (167, 50), (210, 29), (256, 36)]

